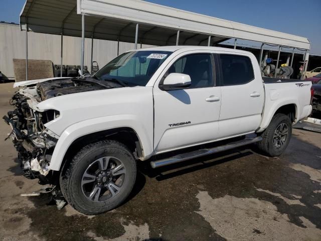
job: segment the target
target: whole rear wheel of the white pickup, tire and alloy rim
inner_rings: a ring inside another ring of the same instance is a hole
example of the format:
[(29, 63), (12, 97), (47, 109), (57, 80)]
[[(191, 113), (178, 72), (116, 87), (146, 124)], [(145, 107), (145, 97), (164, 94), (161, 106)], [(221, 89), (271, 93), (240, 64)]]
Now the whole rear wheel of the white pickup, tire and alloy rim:
[(260, 151), (270, 157), (281, 155), (289, 144), (292, 135), (290, 118), (282, 113), (273, 116), (269, 126), (261, 134), (262, 141), (257, 143)]

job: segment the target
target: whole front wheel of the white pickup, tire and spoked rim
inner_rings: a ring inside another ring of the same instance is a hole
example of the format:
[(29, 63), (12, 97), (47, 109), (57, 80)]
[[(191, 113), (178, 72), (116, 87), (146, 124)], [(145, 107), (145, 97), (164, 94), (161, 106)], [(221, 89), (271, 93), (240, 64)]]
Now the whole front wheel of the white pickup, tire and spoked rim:
[(130, 151), (116, 141), (100, 141), (81, 149), (61, 174), (61, 189), (79, 212), (99, 214), (119, 206), (136, 179)]

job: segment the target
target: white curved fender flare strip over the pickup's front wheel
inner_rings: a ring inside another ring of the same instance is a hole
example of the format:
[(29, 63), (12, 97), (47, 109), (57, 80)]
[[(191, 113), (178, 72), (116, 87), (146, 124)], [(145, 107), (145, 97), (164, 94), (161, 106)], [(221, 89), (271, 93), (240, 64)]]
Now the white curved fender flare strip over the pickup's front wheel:
[[(59, 171), (64, 160), (65, 154), (72, 143), (80, 137), (96, 132), (107, 131), (115, 128), (131, 128), (133, 129), (144, 150), (144, 156), (150, 156), (153, 152), (152, 137), (149, 137), (148, 130), (138, 121), (139, 117), (132, 114), (121, 114), (112, 116), (103, 116), (86, 121), (78, 122), (62, 133), (58, 139), (54, 149), (50, 166), (50, 170)], [(150, 139), (151, 138), (151, 139)]]

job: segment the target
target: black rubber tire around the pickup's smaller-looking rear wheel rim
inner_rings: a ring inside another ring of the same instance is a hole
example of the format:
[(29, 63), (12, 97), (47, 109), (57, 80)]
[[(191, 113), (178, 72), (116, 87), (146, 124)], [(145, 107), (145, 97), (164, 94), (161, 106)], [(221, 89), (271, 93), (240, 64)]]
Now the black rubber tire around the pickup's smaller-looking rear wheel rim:
[[(277, 143), (277, 138), (274, 139), (274, 135), (276, 129), (280, 127), (281, 124), (285, 124), (288, 128), (286, 139), (283, 142), (283, 145), (280, 147), (275, 146), (275, 142)], [(284, 150), (286, 149), (287, 145), (289, 144), (290, 138), (292, 135), (292, 123), (290, 118), (282, 113), (277, 113), (273, 116), (269, 126), (265, 129), (265, 131), (261, 134), (263, 138), (262, 141), (257, 143), (257, 147), (260, 151), (262, 151), (265, 155), (270, 157), (277, 157), (280, 156)], [(275, 142), (274, 142), (275, 141)]]

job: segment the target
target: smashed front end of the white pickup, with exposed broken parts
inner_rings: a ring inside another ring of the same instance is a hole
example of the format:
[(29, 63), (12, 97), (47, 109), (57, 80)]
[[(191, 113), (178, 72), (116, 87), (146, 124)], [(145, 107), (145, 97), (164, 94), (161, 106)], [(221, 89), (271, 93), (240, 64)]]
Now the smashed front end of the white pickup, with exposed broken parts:
[(36, 110), (41, 101), (36, 87), (20, 89), (10, 100), (15, 109), (3, 118), (12, 128), (7, 139), (13, 139), (24, 176), (39, 178), (41, 184), (55, 185), (54, 172), (50, 171), (49, 164), (59, 137), (44, 125), (59, 117), (60, 113), (52, 109)]

